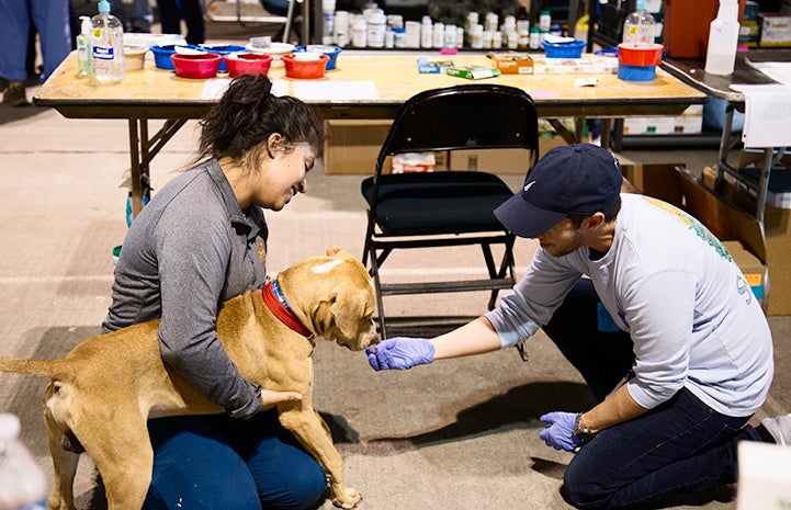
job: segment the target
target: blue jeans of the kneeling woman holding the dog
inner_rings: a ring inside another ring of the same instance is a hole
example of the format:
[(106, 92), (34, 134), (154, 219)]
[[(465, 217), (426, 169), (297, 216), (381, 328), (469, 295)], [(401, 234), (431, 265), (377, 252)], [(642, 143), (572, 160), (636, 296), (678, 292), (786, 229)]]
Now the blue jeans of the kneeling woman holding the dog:
[(275, 410), (148, 421), (154, 475), (146, 510), (306, 510), (327, 488), (319, 464), (283, 429)]

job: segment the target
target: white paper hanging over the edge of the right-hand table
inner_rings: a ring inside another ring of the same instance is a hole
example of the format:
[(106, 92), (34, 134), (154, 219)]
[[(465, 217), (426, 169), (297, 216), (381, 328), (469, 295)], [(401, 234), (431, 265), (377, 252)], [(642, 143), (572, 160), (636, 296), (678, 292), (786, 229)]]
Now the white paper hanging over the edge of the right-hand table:
[(742, 141), (747, 148), (791, 146), (791, 87), (732, 84), (744, 93)]

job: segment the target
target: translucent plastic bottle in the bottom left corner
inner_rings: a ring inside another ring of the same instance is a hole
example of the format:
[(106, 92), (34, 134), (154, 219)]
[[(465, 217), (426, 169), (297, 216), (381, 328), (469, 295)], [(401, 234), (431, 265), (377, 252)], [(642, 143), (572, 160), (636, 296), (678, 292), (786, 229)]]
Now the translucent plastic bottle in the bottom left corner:
[(44, 472), (19, 434), (20, 419), (0, 413), (0, 510), (45, 510)]

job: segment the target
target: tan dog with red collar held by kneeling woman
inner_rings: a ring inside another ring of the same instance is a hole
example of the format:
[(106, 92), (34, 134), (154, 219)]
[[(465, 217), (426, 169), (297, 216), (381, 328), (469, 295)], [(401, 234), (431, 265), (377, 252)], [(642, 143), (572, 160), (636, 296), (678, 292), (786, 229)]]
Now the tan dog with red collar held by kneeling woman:
[[(285, 304), (276, 293), (267, 294), (269, 286), (227, 301), (217, 317), (217, 333), (247, 381), (303, 394), (302, 401), (278, 404), (280, 422), (325, 468), (332, 502), (353, 508), (362, 496), (346, 486), (329, 429), (313, 408), (310, 354), (313, 336), (354, 351), (374, 343), (375, 298), (359, 261), (344, 250), (327, 253), (278, 275)], [(272, 299), (281, 303), (280, 309)], [(159, 320), (152, 320), (90, 338), (64, 360), (0, 356), (3, 372), (52, 378), (44, 390), (55, 464), (52, 509), (75, 508), (79, 453), (74, 451), (81, 444), (102, 476), (109, 510), (139, 510), (154, 460), (147, 418), (224, 411), (162, 363), (158, 326)]]

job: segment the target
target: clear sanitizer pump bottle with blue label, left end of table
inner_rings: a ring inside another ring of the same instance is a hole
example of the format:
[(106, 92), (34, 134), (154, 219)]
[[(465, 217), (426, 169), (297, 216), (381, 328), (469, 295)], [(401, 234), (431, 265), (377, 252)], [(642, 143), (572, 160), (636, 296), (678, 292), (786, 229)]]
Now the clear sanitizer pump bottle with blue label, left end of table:
[(110, 13), (110, 2), (100, 0), (99, 14), (91, 19), (91, 64), (93, 78), (101, 82), (116, 82), (125, 77), (124, 27)]

